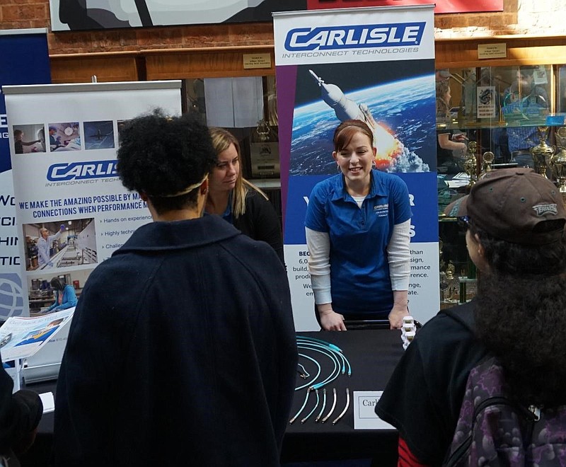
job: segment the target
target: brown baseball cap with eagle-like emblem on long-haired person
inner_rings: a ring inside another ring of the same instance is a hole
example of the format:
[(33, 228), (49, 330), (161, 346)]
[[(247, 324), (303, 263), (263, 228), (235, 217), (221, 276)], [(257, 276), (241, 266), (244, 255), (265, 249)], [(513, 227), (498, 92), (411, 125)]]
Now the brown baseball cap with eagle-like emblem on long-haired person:
[[(502, 168), (486, 173), (470, 194), (449, 205), (450, 217), (467, 216), (479, 229), (500, 240), (545, 245), (560, 240), (566, 209), (558, 188), (532, 168)], [(550, 219), (555, 229), (545, 229)]]

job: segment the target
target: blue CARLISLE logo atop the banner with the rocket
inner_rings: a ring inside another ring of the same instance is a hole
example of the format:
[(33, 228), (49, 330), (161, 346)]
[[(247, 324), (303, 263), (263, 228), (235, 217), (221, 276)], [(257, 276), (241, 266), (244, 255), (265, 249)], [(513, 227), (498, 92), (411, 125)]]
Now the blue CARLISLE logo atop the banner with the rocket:
[(340, 50), (420, 45), (426, 23), (391, 23), (291, 29), (285, 49)]

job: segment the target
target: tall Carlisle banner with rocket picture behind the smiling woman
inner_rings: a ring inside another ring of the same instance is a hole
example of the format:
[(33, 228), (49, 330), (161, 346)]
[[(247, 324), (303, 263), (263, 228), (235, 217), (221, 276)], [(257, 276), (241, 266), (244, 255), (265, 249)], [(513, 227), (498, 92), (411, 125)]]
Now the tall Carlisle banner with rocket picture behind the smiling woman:
[(333, 132), (348, 119), (374, 130), (376, 167), (408, 185), (409, 309), (427, 321), (439, 309), (433, 6), (274, 13), (274, 28), (285, 260), (296, 328), (318, 329), (304, 219), (313, 186), (336, 174)]

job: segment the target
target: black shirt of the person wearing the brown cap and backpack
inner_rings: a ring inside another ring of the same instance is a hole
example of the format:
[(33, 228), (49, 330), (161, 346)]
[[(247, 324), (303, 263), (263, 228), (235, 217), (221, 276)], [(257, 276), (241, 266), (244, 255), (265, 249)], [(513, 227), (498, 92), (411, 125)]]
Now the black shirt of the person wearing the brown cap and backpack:
[[(475, 301), (454, 311), (473, 323)], [(440, 312), (417, 332), (376, 405), (422, 463), (439, 466), (454, 429), (470, 370), (487, 349), (465, 325)]]

